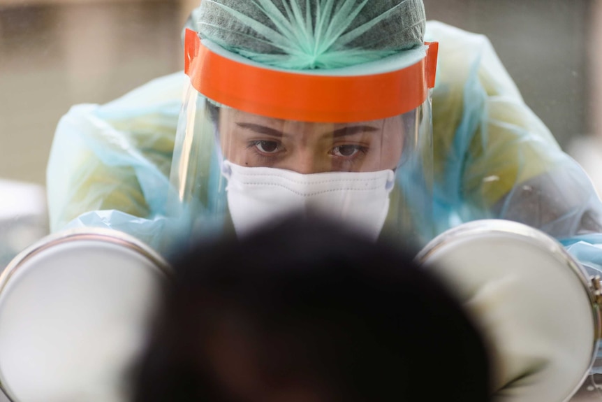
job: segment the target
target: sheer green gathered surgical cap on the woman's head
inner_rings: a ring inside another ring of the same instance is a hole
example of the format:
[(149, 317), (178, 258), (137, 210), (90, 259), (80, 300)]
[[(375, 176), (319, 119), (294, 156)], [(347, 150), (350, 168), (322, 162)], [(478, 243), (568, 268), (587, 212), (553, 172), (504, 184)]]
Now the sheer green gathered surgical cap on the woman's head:
[(335, 69), (423, 45), (422, 0), (203, 0), (201, 38), (281, 69)]

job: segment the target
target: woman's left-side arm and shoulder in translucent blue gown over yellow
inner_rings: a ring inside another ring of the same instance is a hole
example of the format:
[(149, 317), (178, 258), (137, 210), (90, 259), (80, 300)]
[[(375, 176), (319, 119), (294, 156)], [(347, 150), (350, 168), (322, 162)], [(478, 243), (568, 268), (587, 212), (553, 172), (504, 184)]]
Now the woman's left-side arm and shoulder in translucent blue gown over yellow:
[(51, 231), (104, 226), (153, 243), (185, 80), (183, 73), (159, 78), (103, 106), (73, 106), (61, 118), (47, 166)]

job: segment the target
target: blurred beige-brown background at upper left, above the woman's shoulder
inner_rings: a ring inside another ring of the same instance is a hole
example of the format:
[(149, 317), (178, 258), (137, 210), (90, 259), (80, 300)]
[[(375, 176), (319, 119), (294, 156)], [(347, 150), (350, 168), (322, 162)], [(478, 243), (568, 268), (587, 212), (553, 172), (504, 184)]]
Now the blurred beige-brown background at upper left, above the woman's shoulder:
[(71, 105), (104, 103), (179, 70), (192, 7), (0, 0), (0, 178), (43, 184), (54, 128)]

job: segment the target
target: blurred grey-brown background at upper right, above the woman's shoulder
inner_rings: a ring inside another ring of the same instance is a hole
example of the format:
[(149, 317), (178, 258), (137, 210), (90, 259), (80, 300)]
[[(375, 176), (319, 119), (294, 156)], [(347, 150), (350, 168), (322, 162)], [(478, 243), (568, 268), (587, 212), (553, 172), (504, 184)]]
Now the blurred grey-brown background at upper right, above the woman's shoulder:
[[(589, 132), (593, 0), (425, 0), (427, 17), (486, 34), (562, 145)], [(593, 54), (593, 52), (592, 52)]]

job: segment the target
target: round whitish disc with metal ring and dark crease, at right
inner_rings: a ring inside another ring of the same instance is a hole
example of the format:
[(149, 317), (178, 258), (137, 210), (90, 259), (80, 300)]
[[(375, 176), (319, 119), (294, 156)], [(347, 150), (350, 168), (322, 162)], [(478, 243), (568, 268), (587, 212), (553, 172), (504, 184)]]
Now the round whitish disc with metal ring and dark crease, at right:
[(571, 399), (594, 362), (600, 317), (587, 273), (564, 247), (524, 224), (481, 220), (441, 234), (417, 260), (450, 285), (482, 329), (497, 396)]

